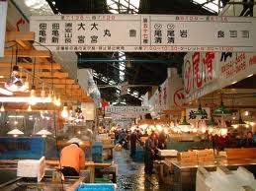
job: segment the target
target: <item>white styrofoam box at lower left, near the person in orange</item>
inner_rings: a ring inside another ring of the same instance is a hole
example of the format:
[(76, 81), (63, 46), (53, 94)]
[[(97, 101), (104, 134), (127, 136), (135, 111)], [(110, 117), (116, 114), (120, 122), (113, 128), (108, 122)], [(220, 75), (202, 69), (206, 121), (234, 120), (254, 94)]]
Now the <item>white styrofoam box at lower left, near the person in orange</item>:
[(45, 158), (21, 159), (18, 161), (17, 176), (37, 177), (38, 182), (43, 179), (45, 169)]

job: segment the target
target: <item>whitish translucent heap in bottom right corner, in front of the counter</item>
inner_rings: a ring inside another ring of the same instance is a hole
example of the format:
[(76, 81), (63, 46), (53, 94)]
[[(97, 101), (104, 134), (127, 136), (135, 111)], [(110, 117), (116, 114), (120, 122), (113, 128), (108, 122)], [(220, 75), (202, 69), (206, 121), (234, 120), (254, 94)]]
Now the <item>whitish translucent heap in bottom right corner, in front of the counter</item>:
[(256, 191), (256, 180), (253, 174), (244, 167), (228, 170), (217, 167), (208, 171), (199, 167), (197, 171), (197, 191)]

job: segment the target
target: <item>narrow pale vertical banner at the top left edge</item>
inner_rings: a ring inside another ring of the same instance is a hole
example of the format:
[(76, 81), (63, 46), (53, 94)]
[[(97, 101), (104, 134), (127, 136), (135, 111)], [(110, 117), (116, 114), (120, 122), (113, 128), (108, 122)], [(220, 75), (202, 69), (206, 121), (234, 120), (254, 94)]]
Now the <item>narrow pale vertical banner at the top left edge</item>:
[(4, 57), (7, 1), (0, 0), (0, 57)]

